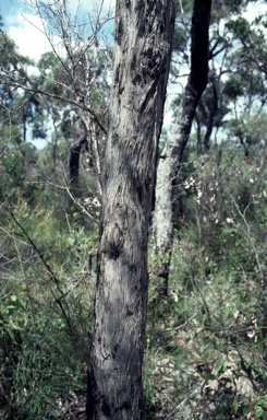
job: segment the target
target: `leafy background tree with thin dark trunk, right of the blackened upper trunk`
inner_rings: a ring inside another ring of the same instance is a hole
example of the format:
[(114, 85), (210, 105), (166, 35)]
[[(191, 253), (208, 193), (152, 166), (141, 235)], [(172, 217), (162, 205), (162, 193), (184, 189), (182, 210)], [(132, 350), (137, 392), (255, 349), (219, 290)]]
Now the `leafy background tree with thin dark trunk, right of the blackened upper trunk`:
[(220, 129), (220, 137), (227, 133), (231, 142), (241, 145), (245, 156), (263, 142), (254, 119), (258, 125), (263, 117), (264, 124), (267, 100), (264, 10), (255, 20), (245, 18), (245, 9), (230, 10), (220, 34), (215, 32), (218, 25), (211, 25), (210, 44), (219, 43), (223, 49), (219, 59), (209, 60), (209, 84), (196, 110), (198, 154), (208, 152), (214, 128)]

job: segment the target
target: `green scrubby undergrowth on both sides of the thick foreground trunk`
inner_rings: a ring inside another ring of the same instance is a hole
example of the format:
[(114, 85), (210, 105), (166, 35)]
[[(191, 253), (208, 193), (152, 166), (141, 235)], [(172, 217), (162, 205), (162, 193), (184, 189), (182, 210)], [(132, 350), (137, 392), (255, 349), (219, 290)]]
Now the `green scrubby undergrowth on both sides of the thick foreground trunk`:
[[(187, 153), (168, 296), (153, 238), (149, 253), (148, 418), (265, 416), (265, 153), (257, 147), (245, 159), (229, 144), (198, 160)], [(16, 190), (1, 203), (5, 419), (71, 418), (85, 390), (97, 228), (64, 190), (51, 188), (48, 203), (44, 188), (38, 200)]]

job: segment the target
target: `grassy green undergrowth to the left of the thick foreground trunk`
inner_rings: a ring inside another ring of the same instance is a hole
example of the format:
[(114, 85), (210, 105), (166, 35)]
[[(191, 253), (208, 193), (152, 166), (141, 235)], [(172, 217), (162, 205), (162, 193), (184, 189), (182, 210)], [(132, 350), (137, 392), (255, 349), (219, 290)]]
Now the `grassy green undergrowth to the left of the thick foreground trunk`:
[(21, 196), (0, 215), (1, 419), (60, 419), (85, 388), (96, 234)]

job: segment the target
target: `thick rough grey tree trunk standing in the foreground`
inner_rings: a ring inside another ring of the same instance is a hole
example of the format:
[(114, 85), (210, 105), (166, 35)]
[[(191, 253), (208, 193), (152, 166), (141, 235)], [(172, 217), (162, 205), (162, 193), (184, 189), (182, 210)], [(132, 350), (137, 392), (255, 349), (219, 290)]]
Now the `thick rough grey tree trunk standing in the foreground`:
[(118, 0), (87, 418), (142, 418), (147, 242), (172, 0)]

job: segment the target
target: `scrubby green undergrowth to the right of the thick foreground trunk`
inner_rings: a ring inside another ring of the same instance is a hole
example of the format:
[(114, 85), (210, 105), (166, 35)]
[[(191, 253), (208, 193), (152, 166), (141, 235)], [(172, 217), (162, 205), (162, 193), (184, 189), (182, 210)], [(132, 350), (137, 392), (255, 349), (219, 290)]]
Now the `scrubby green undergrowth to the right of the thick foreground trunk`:
[(253, 152), (189, 156), (168, 296), (151, 250), (149, 375), (162, 419), (266, 416), (267, 173), (265, 149)]

